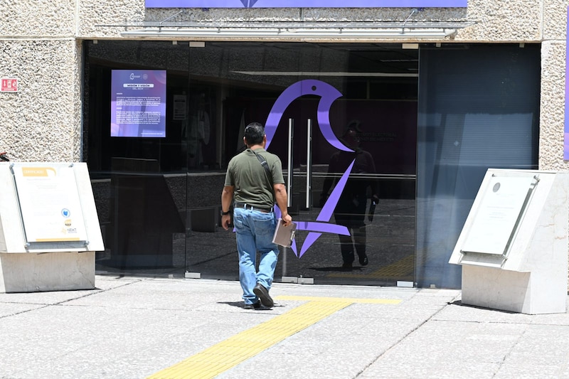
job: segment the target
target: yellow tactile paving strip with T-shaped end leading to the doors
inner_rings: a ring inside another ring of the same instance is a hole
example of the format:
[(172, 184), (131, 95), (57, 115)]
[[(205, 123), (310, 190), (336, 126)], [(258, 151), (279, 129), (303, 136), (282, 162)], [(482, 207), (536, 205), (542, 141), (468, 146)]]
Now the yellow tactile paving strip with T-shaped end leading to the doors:
[(294, 333), (306, 329), (353, 303), (398, 304), (395, 299), (348, 299), (338, 297), (275, 297), (279, 300), (308, 301), (285, 314), (221, 341), (201, 353), (184, 359), (148, 379), (215, 378), (220, 373), (257, 355)]

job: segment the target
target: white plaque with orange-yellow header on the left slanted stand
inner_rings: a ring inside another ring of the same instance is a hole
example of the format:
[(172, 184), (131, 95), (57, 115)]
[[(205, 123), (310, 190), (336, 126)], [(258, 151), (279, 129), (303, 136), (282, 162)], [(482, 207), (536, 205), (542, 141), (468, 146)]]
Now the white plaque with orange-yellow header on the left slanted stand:
[(73, 166), (14, 164), (27, 242), (86, 241)]

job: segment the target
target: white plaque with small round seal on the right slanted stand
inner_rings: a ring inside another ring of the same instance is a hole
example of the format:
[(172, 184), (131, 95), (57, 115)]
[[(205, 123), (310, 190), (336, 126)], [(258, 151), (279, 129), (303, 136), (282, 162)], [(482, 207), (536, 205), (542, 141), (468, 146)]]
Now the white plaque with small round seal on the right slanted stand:
[(526, 204), (533, 177), (493, 176), (482, 193), (474, 223), (462, 252), (506, 253), (506, 247)]

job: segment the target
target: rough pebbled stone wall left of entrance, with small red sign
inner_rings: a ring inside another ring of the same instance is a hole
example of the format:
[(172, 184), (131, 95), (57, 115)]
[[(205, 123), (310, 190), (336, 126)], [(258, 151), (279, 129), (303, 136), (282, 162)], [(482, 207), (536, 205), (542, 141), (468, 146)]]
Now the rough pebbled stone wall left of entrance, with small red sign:
[(75, 1), (8, 0), (0, 8), (0, 151), (14, 161), (80, 159), (80, 43)]

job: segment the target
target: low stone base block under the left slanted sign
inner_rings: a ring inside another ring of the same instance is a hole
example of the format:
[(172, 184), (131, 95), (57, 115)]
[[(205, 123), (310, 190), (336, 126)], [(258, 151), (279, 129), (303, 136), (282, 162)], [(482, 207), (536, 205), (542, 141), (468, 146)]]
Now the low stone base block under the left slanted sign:
[(0, 253), (0, 292), (95, 288), (95, 252)]

